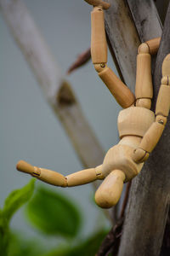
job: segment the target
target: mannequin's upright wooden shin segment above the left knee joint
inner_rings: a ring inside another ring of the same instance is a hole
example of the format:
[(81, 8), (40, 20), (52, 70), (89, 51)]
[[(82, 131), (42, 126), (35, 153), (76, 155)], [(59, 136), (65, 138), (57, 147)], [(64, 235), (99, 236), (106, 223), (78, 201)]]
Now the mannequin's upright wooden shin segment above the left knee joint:
[(94, 64), (107, 62), (104, 11), (99, 7), (91, 13), (91, 55)]

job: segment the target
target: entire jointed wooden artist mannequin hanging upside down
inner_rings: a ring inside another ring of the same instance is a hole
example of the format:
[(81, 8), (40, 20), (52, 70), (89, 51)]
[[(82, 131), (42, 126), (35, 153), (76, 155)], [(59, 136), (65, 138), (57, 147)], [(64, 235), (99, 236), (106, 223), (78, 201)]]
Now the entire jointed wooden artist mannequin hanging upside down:
[(109, 3), (101, 0), (86, 0), (94, 5), (92, 11), (91, 55), (100, 79), (106, 84), (116, 101), (124, 108), (118, 116), (118, 131), (121, 141), (110, 148), (101, 166), (72, 173), (66, 177), (59, 172), (31, 166), (23, 160), (17, 164), (21, 172), (61, 187), (72, 187), (103, 179), (95, 194), (99, 207), (116, 205), (122, 194), (123, 183), (139, 174), (156, 147), (167, 122), (170, 108), (170, 55), (162, 64), (161, 87), (156, 102), (156, 116), (150, 110), (153, 95), (150, 55), (156, 54), (160, 38), (151, 39), (139, 45), (135, 96), (106, 66), (107, 46), (105, 38), (104, 9)]

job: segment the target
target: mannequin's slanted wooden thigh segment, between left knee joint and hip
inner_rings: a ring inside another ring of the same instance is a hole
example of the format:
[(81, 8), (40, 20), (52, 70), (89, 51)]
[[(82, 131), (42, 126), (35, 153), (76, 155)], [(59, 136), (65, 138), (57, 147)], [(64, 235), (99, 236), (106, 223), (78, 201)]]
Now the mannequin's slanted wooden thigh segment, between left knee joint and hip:
[(105, 67), (102, 72), (99, 73), (100, 79), (105, 83), (107, 88), (111, 91), (112, 96), (116, 98), (122, 108), (130, 107), (135, 98), (131, 90), (117, 78), (116, 74), (112, 72), (111, 68)]

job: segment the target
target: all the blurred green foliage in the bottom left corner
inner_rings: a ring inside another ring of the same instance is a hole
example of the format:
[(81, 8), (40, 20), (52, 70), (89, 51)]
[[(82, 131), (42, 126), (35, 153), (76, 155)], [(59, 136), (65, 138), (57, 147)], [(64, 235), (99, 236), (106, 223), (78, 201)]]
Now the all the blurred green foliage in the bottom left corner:
[[(14, 190), (0, 209), (0, 255), (1, 256), (94, 256), (106, 235), (99, 230), (86, 239), (77, 235), (82, 224), (79, 209), (65, 196), (45, 187), (34, 189), (31, 179), (22, 189)], [(34, 195), (31, 197), (31, 195)], [(30, 200), (31, 199), (31, 200)], [(27, 201), (26, 216), (37, 230), (48, 236), (64, 239), (58, 247), (44, 248), (41, 241), (26, 240), (9, 228), (10, 220)]]

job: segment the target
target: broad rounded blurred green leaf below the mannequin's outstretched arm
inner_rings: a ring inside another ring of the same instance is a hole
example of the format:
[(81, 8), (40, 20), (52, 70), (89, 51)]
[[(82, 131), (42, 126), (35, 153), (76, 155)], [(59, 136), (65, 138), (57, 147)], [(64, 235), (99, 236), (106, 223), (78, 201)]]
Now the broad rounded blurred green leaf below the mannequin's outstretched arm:
[(77, 207), (51, 190), (37, 189), (26, 210), (31, 223), (48, 235), (72, 238), (80, 228), (81, 217)]

